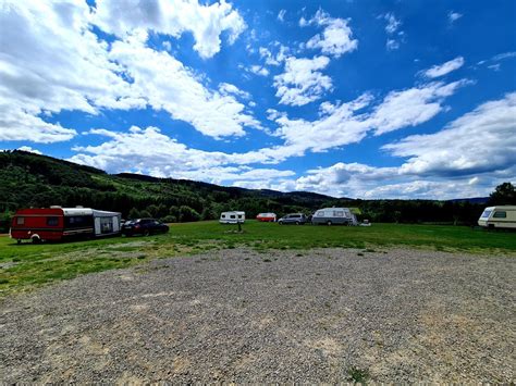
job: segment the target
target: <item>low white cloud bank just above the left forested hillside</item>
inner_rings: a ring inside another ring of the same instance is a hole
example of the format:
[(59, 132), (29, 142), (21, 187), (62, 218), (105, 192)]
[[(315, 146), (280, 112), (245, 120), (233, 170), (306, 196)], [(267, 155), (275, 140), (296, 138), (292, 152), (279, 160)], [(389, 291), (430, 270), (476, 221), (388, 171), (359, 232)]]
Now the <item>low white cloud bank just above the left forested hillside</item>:
[(226, 185), (234, 182), (273, 182), (295, 175), (290, 170), (234, 165), (238, 161), (246, 163), (245, 154), (238, 159), (235, 154), (192, 149), (151, 126), (133, 126), (128, 132), (91, 129), (88, 135), (108, 140), (98, 146), (75, 147), (73, 150), (77, 154), (70, 161), (109, 172), (125, 171)]

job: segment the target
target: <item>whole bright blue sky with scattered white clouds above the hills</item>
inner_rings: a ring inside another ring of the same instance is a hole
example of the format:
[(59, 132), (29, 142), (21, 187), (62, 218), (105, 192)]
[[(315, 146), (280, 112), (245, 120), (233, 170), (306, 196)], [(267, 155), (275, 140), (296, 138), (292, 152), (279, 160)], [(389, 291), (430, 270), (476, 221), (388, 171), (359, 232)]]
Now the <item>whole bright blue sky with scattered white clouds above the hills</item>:
[(249, 188), (516, 183), (514, 1), (10, 1), (0, 149)]

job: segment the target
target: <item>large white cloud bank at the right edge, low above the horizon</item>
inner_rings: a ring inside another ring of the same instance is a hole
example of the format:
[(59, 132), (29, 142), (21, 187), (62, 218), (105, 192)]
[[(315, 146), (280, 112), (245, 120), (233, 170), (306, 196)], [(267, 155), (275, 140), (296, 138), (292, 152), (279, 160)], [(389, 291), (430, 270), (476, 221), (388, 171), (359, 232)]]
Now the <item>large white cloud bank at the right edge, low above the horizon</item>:
[(452, 199), (487, 196), (516, 179), (516, 92), (482, 103), (431, 135), (384, 146), (400, 166), (339, 162), (307, 171), (296, 189), (360, 198)]

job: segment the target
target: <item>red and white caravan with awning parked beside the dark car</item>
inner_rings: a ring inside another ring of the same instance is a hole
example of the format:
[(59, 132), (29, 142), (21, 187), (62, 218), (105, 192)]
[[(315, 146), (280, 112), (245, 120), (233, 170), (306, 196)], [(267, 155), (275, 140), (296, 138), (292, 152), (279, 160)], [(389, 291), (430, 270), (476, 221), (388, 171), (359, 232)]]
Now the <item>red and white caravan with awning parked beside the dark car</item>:
[(121, 213), (90, 208), (22, 209), (14, 214), (11, 238), (33, 240), (62, 240), (70, 237), (100, 237), (119, 235)]

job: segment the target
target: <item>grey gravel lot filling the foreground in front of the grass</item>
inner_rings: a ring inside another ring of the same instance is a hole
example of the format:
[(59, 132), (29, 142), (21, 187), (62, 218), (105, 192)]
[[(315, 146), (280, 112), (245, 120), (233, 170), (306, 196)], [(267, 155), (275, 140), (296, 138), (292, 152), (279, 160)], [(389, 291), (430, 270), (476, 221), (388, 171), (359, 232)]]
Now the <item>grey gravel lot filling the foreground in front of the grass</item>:
[(515, 276), (408, 249), (153, 261), (3, 300), (0, 381), (511, 383)]

